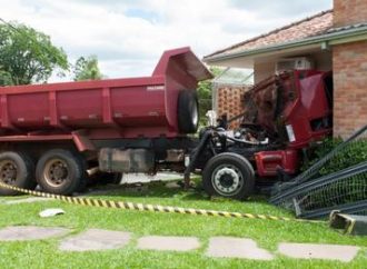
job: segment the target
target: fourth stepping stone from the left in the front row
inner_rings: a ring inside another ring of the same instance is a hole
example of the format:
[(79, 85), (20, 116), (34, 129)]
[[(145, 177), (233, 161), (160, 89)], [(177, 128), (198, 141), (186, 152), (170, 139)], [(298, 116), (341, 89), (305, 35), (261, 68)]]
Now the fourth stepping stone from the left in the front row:
[(242, 258), (254, 260), (271, 260), (274, 256), (247, 238), (212, 237), (209, 240), (207, 256), (217, 258)]

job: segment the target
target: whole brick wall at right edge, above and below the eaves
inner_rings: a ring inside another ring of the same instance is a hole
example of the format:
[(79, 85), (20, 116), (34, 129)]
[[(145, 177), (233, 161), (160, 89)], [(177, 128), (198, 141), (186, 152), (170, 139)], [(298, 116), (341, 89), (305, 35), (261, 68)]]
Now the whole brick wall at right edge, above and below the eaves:
[[(367, 22), (367, 0), (334, 0), (334, 26)], [(367, 123), (367, 41), (333, 47), (334, 136)]]

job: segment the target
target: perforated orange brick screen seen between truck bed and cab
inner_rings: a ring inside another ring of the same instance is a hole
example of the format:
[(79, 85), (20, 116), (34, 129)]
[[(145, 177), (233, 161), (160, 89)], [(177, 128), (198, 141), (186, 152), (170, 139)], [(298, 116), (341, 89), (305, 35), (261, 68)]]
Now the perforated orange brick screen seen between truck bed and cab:
[[(242, 96), (248, 87), (220, 86), (217, 89), (217, 113), (220, 117), (227, 113), (228, 119), (244, 112)], [(239, 121), (230, 124), (230, 129), (236, 129)]]

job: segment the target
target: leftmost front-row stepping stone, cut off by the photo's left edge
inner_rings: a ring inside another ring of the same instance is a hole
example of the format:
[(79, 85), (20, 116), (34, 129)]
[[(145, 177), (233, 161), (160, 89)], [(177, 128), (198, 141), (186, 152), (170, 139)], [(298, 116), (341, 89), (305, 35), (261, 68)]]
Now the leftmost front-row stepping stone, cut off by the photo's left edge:
[(59, 227), (10, 226), (0, 230), (0, 241), (37, 240), (61, 237), (71, 230)]

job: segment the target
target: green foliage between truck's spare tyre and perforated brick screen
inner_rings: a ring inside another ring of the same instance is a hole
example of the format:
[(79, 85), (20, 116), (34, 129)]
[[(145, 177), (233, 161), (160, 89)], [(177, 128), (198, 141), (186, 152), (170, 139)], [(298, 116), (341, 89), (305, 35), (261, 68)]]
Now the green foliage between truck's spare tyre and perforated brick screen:
[[(210, 68), (210, 72), (214, 77), (218, 76), (221, 72), (219, 68)], [(205, 126), (207, 123), (206, 113), (208, 110), (212, 109), (212, 87), (211, 87), (211, 79), (200, 81), (198, 84), (198, 98), (199, 98), (199, 122), (200, 124)]]

